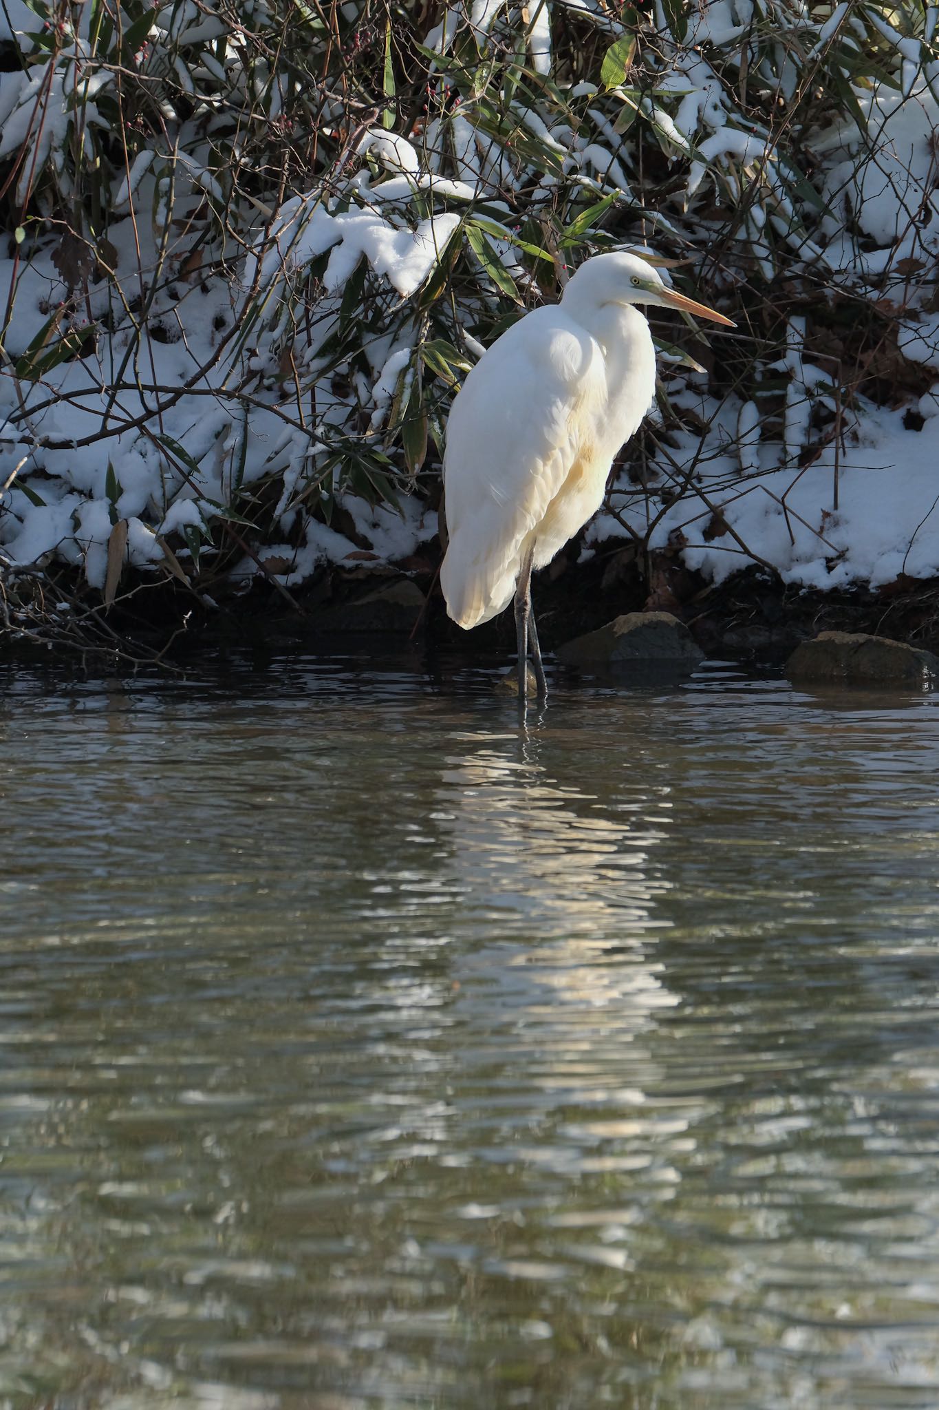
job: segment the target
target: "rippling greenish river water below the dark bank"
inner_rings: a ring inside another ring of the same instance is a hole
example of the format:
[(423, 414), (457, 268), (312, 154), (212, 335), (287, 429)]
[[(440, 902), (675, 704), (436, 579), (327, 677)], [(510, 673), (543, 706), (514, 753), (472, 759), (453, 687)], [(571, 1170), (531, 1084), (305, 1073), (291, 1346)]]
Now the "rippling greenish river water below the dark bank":
[(0, 1406), (939, 1403), (936, 697), (0, 675)]

